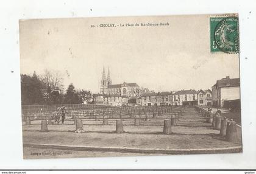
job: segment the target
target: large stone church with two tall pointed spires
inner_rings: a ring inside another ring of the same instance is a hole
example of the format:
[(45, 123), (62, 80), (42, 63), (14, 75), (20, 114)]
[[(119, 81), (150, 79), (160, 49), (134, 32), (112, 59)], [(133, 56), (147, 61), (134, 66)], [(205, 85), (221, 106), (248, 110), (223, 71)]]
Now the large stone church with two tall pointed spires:
[(103, 66), (102, 78), (101, 78), (101, 89), (100, 93), (104, 96), (126, 96), (126, 97), (139, 97), (141, 95), (140, 86), (137, 83), (120, 83), (120, 84), (112, 84), (112, 80), (110, 77), (110, 71), (108, 68), (107, 78), (105, 76), (105, 66)]

